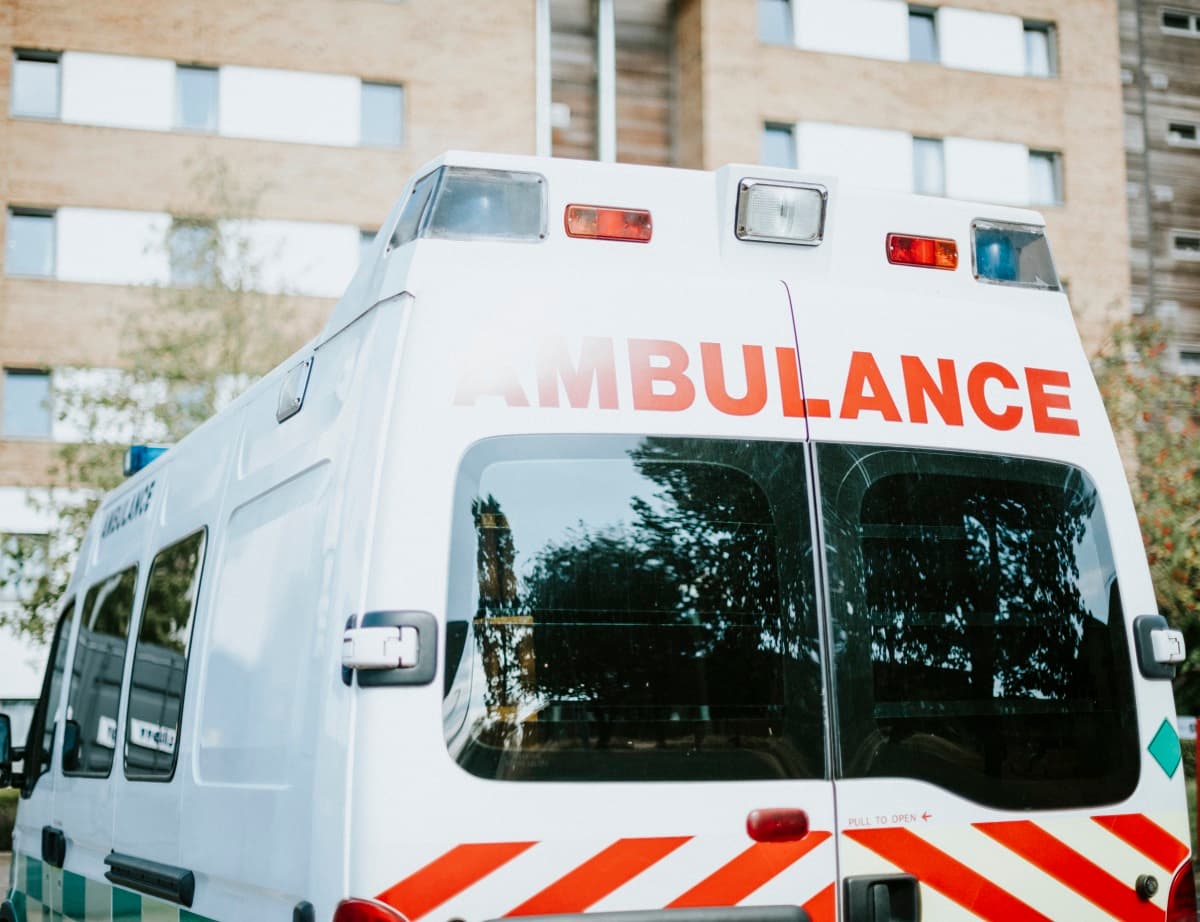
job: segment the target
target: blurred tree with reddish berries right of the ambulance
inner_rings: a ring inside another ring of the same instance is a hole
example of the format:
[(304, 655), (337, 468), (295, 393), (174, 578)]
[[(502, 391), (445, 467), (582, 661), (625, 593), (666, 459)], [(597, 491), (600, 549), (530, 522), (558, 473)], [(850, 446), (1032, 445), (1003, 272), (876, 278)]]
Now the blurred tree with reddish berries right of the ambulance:
[(1181, 375), (1171, 329), (1134, 318), (1112, 329), (1097, 381), (1126, 455), (1159, 612), (1184, 633), (1175, 683), (1184, 713), (1200, 708), (1200, 378)]

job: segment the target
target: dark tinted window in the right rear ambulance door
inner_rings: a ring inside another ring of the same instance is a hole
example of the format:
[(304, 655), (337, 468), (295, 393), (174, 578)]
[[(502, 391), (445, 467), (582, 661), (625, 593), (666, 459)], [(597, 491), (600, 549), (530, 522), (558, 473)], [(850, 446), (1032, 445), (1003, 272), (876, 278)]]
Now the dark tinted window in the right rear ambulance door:
[(840, 445), (818, 468), (845, 774), (1006, 809), (1132, 794), (1129, 653), (1087, 477)]

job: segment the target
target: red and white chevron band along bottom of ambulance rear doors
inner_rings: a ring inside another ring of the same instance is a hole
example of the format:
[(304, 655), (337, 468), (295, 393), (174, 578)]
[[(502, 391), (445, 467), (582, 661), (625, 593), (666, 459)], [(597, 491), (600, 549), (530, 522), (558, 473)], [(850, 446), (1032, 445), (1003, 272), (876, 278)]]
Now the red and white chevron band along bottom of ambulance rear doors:
[[(1170, 825), (1170, 824), (1168, 824)], [(740, 845), (690, 836), (594, 844), (457, 845), (377, 899), (419, 920), (629, 909), (800, 904), (835, 922), (832, 833)], [(1142, 814), (850, 830), (841, 873), (916, 875), (923, 918), (1162, 922), (1188, 845)], [(1138, 897), (1139, 874), (1159, 878)]]

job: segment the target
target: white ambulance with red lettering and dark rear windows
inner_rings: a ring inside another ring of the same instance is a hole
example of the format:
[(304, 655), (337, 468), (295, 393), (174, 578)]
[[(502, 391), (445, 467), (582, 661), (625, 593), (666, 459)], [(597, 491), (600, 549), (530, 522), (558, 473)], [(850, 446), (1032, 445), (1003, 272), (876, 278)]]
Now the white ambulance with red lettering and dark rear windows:
[(448, 154), (104, 501), (0, 918), (1192, 922), (1154, 612), (1037, 214)]

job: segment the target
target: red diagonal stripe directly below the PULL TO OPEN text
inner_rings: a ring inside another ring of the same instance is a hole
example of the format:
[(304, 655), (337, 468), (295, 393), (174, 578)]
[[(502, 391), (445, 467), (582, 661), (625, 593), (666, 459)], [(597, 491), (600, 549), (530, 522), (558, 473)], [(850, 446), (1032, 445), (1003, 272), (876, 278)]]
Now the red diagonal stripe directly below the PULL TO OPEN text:
[(1051, 922), (1033, 906), (908, 830), (851, 830), (844, 834), (985, 920)]

